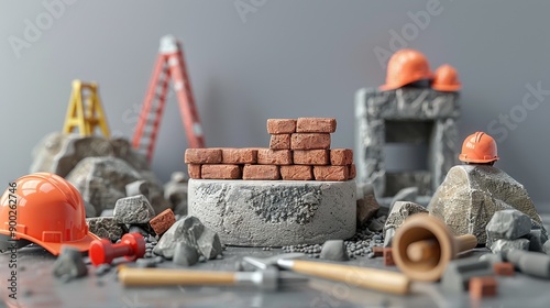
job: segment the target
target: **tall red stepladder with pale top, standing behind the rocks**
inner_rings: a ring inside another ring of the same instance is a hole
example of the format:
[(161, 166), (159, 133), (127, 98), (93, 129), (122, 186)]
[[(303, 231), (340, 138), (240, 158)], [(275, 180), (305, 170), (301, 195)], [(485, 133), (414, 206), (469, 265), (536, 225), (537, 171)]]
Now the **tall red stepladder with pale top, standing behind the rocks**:
[(145, 151), (148, 162), (153, 160), (170, 79), (179, 102), (179, 112), (187, 132), (189, 147), (205, 147), (202, 125), (195, 106), (180, 43), (174, 36), (166, 35), (161, 38), (158, 58), (132, 140), (132, 146), (139, 151)]

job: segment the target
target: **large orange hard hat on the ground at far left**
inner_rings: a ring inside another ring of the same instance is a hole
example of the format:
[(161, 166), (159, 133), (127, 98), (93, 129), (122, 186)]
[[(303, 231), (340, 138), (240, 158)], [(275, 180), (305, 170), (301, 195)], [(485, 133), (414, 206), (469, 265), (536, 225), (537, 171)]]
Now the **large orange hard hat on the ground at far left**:
[(3, 246), (11, 240), (19, 248), (33, 242), (54, 255), (62, 245), (86, 252), (99, 239), (88, 231), (78, 190), (50, 173), (22, 176), (7, 188), (0, 198), (0, 234)]

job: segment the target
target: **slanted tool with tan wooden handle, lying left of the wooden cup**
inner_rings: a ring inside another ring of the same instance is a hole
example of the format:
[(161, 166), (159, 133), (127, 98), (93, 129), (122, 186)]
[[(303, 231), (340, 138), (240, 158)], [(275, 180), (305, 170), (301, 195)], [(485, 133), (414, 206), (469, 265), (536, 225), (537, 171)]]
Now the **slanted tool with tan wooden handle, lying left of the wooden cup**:
[(317, 261), (288, 260), (288, 256), (285, 257), (285, 255), (275, 255), (267, 258), (246, 256), (243, 261), (258, 267), (276, 264), (282, 268), (292, 270), (296, 273), (392, 294), (403, 295), (410, 292), (409, 278), (391, 271)]

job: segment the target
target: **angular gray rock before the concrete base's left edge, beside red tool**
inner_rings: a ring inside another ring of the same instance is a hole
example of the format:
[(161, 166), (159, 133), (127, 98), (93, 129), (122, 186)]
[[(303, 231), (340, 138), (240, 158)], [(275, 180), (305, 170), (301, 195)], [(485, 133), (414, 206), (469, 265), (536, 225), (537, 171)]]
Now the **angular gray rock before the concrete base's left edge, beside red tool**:
[(166, 258), (174, 257), (174, 250), (178, 242), (195, 248), (200, 255), (215, 258), (222, 252), (221, 242), (211, 229), (205, 227), (196, 217), (188, 216), (176, 221), (161, 238), (153, 252)]

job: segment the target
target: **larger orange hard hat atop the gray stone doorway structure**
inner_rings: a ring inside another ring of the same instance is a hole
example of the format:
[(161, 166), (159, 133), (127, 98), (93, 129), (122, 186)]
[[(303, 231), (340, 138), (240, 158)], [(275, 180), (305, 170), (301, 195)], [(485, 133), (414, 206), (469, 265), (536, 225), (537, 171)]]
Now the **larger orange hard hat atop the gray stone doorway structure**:
[(381, 90), (394, 90), (408, 84), (431, 79), (432, 74), (426, 56), (415, 50), (400, 50), (387, 63), (386, 84)]

